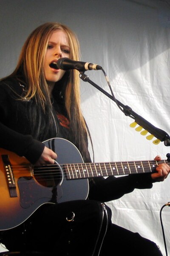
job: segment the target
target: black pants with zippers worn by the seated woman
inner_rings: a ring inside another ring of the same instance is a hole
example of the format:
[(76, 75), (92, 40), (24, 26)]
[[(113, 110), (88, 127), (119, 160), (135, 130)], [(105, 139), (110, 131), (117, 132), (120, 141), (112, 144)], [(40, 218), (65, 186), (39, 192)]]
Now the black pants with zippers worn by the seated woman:
[[(8, 250), (50, 251), (50, 255), (57, 252), (59, 256), (92, 256), (102, 218), (101, 204), (96, 201), (42, 205), (24, 224), (3, 232), (1, 242)], [(108, 218), (100, 256), (162, 256), (155, 243), (112, 224), (109, 208)], [(98, 255), (98, 252), (94, 255)]]

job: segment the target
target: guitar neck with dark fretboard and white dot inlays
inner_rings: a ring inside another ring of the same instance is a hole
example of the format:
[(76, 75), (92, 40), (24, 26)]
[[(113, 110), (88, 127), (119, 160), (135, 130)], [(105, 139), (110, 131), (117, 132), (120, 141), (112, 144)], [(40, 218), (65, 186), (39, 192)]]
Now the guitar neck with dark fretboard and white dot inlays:
[[(159, 163), (168, 163), (165, 160)], [(168, 163), (169, 164), (169, 163)], [(85, 179), (99, 176), (117, 176), (127, 174), (152, 173), (158, 162), (133, 161), (133, 162), (105, 162), (105, 163), (78, 163), (65, 164), (64, 170), (67, 179)]]

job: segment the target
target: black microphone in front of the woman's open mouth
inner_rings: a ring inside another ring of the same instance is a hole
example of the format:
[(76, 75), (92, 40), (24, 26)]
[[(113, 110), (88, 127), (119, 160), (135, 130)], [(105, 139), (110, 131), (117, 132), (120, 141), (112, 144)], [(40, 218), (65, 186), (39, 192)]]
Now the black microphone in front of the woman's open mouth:
[(78, 71), (102, 69), (102, 67), (97, 64), (71, 60), (69, 58), (60, 58), (57, 60), (57, 67), (63, 70), (77, 69)]

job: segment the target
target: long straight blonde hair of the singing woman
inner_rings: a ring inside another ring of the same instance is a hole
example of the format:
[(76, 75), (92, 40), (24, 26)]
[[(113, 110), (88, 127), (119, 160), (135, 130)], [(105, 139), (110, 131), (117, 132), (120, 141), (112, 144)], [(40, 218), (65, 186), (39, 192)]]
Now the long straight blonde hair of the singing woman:
[[(70, 58), (79, 60), (79, 41), (70, 28), (61, 23), (45, 23), (37, 27), (27, 38), (23, 45), (17, 67), (9, 77), (23, 74), (27, 87), (24, 98), (31, 100), (35, 98), (42, 109), (45, 105), (51, 105), (48, 85), (45, 80), (43, 63), (51, 34), (56, 30), (63, 30), (68, 36), (70, 46)], [(64, 81), (63, 81), (64, 79)], [(65, 109), (70, 119), (70, 130), (75, 133), (75, 144), (87, 158), (87, 136), (88, 129), (82, 116), (80, 107), (79, 72), (69, 70), (65, 73), (62, 82), (65, 84)], [(21, 99), (22, 100), (22, 99)]]

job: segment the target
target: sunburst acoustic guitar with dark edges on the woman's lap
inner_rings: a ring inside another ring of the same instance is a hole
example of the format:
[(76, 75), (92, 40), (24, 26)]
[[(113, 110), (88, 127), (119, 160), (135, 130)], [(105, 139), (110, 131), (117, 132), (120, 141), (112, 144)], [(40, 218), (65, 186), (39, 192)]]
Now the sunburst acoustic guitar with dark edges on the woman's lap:
[(36, 167), (0, 149), (0, 230), (20, 225), (45, 203), (86, 199), (88, 178), (153, 172), (158, 165), (155, 160), (84, 163), (79, 150), (66, 139), (43, 143), (57, 153), (54, 165)]

